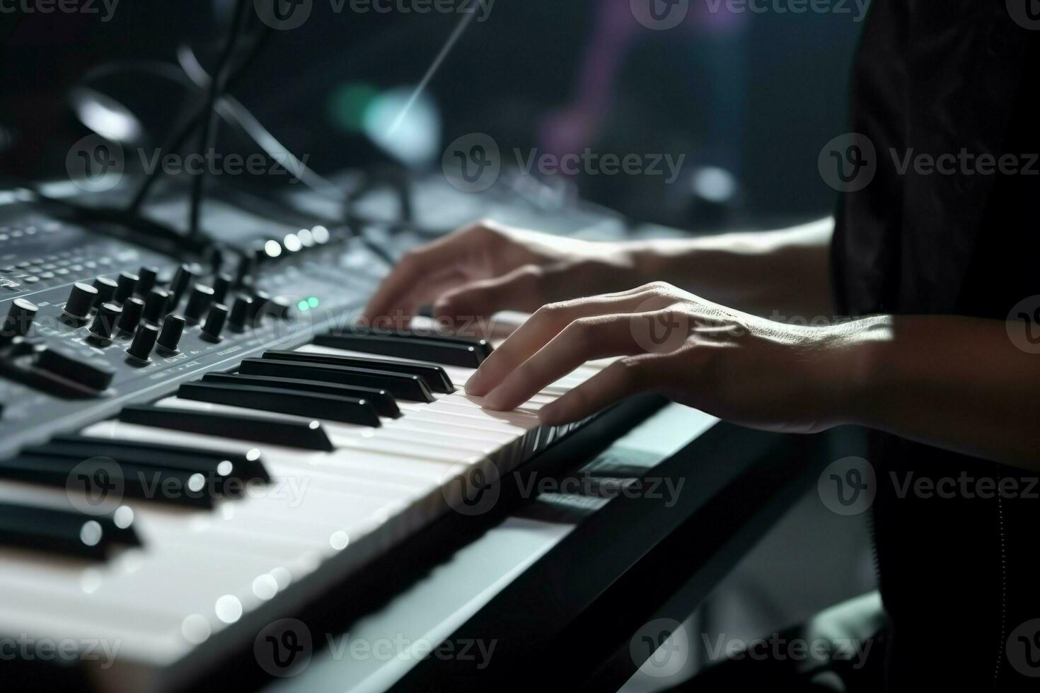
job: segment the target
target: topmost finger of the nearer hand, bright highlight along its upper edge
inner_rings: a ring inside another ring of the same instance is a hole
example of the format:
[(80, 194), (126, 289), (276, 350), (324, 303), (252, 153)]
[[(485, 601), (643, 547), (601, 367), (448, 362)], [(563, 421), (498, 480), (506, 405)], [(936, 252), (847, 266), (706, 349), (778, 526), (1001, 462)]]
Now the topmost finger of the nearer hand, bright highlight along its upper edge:
[(643, 292), (576, 298), (543, 305), (485, 359), (466, 383), (466, 392), (477, 397), (487, 395), (514, 369), (577, 319), (648, 310), (656, 305), (656, 300), (653, 295)]

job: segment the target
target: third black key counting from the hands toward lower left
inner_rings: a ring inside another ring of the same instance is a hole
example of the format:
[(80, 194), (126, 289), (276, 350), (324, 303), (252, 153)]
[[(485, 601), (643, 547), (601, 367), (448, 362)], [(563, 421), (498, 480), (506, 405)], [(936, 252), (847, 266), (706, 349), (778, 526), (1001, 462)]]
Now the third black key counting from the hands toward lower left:
[(238, 367), (238, 372), (243, 375), (269, 375), (278, 378), (323, 380), (342, 385), (376, 388), (387, 391), (397, 399), (414, 402), (435, 401), (433, 393), (426, 387), (426, 381), (419, 376), (371, 368), (308, 364), (274, 358), (246, 358)]

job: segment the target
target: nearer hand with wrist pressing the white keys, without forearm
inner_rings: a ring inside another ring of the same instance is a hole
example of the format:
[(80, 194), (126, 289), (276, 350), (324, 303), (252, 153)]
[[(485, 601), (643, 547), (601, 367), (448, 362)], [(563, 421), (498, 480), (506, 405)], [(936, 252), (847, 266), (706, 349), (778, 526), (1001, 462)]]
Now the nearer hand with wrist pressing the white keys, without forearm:
[(580, 420), (656, 392), (735, 423), (814, 432), (841, 422), (857, 345), (870, 321), (790, 326), (654, 283), (540, 309), (466, 385), (491, 409), (513, 409), (586, 363), (624, 356), (544, 406), (543, 423)]

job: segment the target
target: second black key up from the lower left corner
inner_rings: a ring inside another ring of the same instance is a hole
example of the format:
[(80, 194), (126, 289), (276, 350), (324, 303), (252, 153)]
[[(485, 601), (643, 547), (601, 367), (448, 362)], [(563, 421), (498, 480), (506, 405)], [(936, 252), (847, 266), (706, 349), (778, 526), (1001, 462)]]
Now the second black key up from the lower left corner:
[[(59, 455), (19, 455), (0, 461), (0, 479), (28, 481), (46, 486), (75, 488), (77, 464), (82, 457)], [(144, 464), (99, 462), (107, 473), (105, 483), (123, 498), (170, 503), (193, 508), (212, 508), (216, 498), (229, 496), (226, 479), (207, 477), (199, 472), (168, 470)], [(84, 482), (89, 483), (89, 482)]]

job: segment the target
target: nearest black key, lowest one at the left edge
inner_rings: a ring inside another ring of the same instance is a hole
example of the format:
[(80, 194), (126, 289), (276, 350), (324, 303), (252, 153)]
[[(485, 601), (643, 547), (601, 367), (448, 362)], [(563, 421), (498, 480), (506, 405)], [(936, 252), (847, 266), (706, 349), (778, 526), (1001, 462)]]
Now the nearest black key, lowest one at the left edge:
[(116, 527), (108, 514), (0, 503), (0, 544), (104, 560), (114, 545), (140, 545), (140, 539), (132, 525)]

